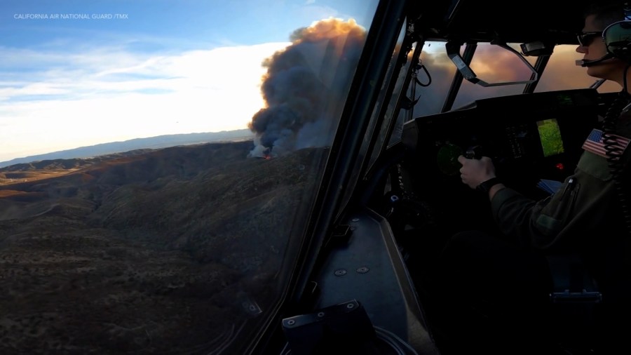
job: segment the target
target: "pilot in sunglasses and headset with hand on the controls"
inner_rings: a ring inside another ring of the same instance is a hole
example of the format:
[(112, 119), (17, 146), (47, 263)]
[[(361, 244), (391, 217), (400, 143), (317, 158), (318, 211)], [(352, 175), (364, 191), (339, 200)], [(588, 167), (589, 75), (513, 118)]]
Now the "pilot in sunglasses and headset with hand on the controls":
[(563, 325), (547, 318), (553, 286), (546, 255), (577, 253), (603, 297), (604, 319), (597, 327), (602, 334), (595, 336), (608, 348), (599, 350), (613, 354), (621, 347), (616, 354), (631, 354), (625, 341), (631, 334), (631, 11), (625, 8), (620, 1), (599, 1), (584, 13), (576, 48), (583, 60), (576, 64), (590, 76), (618, 83), (621, 91), (555, 194), (533, 201), (504, 185), (489, 157), (458, 158), (462, 182), (488, 195), (499, 232), (456, 234), (438, 265), (439, 297), (454, 317), (445, 322), (467, 347), (479, 342), (488, 350), (491, 343), (505, 354), (516, 354), (515, 346), (523, 354), (555, 348)]

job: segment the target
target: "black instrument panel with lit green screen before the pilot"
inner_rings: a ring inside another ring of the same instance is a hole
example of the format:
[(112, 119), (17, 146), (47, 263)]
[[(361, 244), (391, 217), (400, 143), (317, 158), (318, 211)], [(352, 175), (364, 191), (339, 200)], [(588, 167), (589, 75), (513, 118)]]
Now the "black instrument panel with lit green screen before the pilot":
[(510, 95), (408, 121), (405, 169), (426, 198), (449, 199), (470, 190), (457, 159), (471, 150), (491, 157), (507, 185), (536, 191), (540, 179), (563, 180), (573, 172), (597, 124), (598, 98), (593, 88)]

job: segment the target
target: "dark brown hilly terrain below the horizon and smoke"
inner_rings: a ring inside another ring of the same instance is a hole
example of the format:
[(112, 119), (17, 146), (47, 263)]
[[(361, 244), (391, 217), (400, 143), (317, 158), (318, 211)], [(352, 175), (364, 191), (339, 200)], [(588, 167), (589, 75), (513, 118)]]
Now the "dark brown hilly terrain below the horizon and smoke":
[(1, 169), (0, 354), (209, 354), (256, 327), (326, 149), (251, 149)]

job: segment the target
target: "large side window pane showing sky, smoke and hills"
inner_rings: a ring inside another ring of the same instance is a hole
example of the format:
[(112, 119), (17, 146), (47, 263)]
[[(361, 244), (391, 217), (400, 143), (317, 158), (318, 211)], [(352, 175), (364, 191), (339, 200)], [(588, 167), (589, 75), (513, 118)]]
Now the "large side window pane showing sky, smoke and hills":
[(376, 3), (4, 0), (0, 353), (245, 354)]

